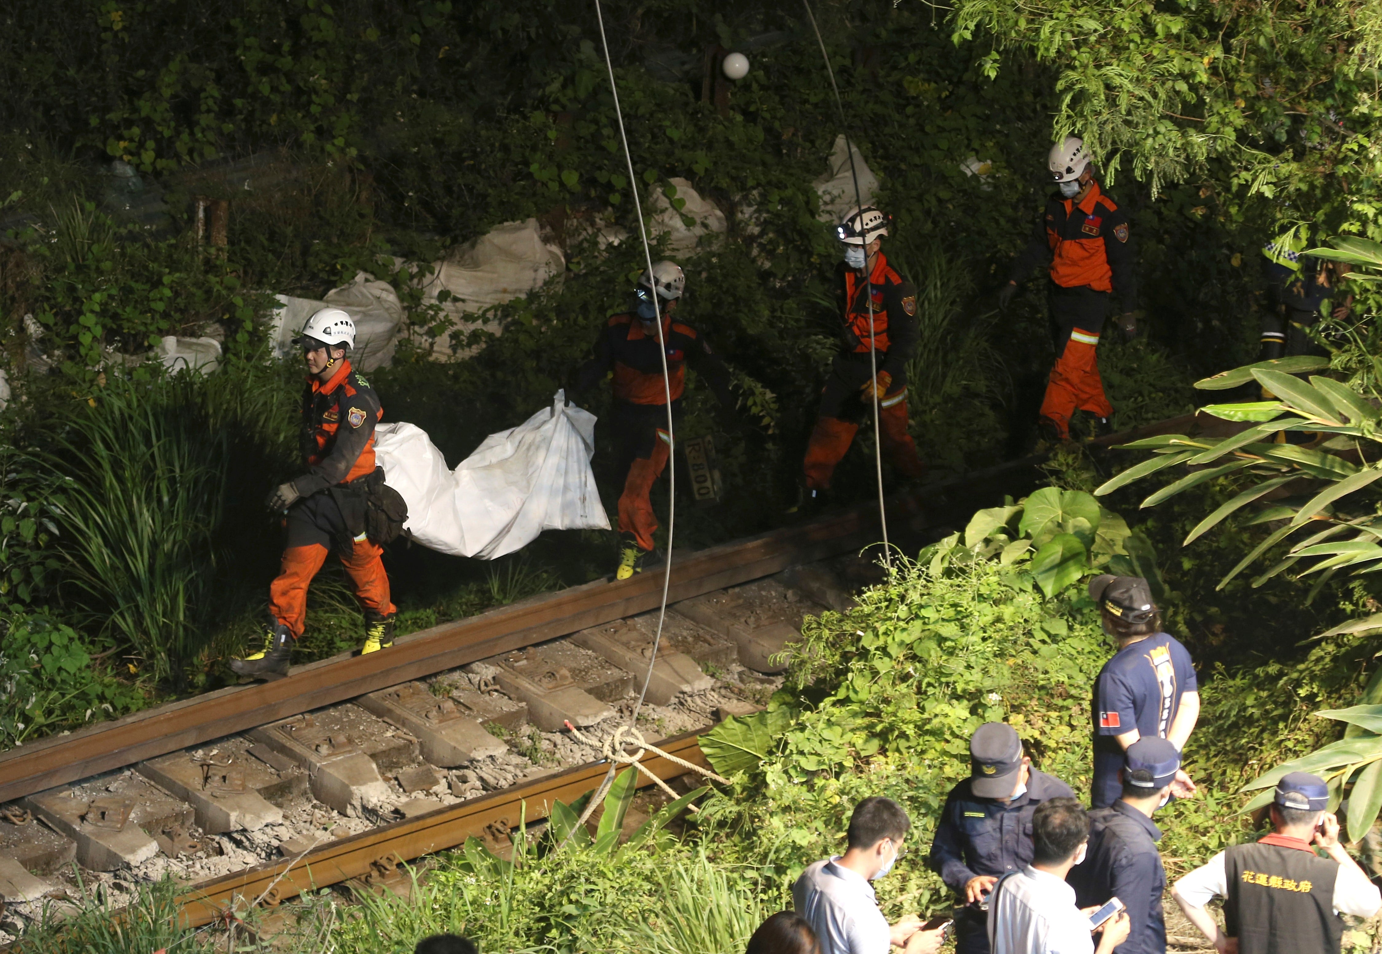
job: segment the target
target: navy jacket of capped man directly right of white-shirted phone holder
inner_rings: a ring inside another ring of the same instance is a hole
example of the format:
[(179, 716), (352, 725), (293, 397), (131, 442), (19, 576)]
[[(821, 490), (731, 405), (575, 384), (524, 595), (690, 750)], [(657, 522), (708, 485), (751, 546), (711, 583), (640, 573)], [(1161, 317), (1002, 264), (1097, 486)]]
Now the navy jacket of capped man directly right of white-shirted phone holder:
[(1089, 853), (1066, 875), (1078, 907), (1103, 906), (1117, 897), (1128, 906), (1132, 933), (1114, 954), (1165, 954), (1166, 922), (1161, 895), (1166, 870), (1157, 842), (1161, 830), (1124, 801), (1089, 813)]

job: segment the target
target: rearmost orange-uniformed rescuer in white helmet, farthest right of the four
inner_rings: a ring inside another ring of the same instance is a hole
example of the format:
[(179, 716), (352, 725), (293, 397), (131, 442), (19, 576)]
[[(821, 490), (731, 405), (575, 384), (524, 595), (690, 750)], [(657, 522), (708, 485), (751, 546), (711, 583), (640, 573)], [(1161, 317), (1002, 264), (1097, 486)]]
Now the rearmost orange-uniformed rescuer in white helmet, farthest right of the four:
[(1048, 159), (1059, 192), (1046, 200), (1046, 212), (1027, 247), (1013, 261), (1009, 281), (998, 293), (1007, 308), (1017, 286), (1045, 261), (1050, 261), (1048, 300), (1056, 330), (1056, 366), (1050, 371), (1041, 405), (1042, 437), (1070, 438), (1075, 411), (1096, 418), (1096, 429), (1111, 430), (1113, 405), (1099, 377), (1096, 348), (1110, 299), (1118, 299), (1119, 326), (1126, 337), (1137, 335), (1133, 311), (1137, 279), (1129, 243), (1128, 216), (1104, 195), (1082, 140), (1066, 137)]

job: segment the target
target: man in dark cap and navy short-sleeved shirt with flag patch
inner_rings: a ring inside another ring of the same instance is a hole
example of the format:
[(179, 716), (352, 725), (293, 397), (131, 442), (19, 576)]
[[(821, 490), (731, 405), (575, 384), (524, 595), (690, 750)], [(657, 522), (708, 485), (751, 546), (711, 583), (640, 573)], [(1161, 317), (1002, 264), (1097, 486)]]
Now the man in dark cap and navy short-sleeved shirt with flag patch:
[[(1122, 794), (1124, 752), (1144, 737), (1165, 738), (1182, 751), (1200, 718), (1200, 691), (1190, 653), (1161, 632), (1161, 612), (1142, 577), (1095, 577), (1089, 596), (1099, 604), (1104, 632), (1118, 642), (1095, 680), (1095, 778), (1089, 802), (1106, 809)], [(1194, 794), (1184, 770), (1171, 792)]]

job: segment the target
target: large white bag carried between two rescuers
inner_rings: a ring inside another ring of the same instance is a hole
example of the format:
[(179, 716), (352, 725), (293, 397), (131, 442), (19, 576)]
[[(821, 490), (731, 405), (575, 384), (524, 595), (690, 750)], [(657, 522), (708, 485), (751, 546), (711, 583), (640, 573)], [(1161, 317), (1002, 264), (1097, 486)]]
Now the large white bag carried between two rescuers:
[(408, 502), (413, 539), (452, 556), (493, 560), (545, 530), (609, 530), (590, 470), (596, 418), (550, 408), (486, 437), (455, 470), (415, 424), (375, 429), (375, 456), (388, 485)]

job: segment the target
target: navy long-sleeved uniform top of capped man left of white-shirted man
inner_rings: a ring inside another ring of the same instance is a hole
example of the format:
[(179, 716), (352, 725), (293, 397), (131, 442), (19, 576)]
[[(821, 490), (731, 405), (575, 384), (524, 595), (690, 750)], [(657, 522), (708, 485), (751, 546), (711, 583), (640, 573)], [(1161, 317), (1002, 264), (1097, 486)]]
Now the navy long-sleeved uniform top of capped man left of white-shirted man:
[(977, 875), (1001, 877), (1032, 860), (1032, 813), (1052, 798), (1074, 798), (1070, 785), (1038, 769), (1027, 778), (1027, 791), (1013, 801), (996, 802), (969, 791), (969, 778), (951, 789), (931, 841), (931, 870), (965, 893)]

